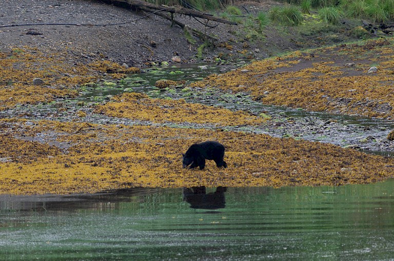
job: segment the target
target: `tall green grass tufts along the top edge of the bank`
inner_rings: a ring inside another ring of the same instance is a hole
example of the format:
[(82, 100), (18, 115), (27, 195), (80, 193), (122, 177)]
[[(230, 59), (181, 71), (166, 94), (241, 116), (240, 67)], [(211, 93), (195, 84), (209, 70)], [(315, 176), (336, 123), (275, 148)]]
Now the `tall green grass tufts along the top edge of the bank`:
[[(316, 13), (318, 18), (327, 24), (338, 25), (341, 18), (365, 19), (370, 23), (394, 21), (394, 2), (392, 0), (283, 0), (284, 5), (274, 6), (267, 13), (257, 15), (243, 12), (238, 1), (218, 0), (146, 0), (155, 5), (181, 5), (196, 10), (218, 10), (224, 8), (220, 15), (236, 23), (243, 24), (249, 30), (273, 24), (298, 26), (303, 23), (304, 16)], [(269, 17), (266, 19), (265, 17)], [(260, 29), (261, 31), (261, 29)]]

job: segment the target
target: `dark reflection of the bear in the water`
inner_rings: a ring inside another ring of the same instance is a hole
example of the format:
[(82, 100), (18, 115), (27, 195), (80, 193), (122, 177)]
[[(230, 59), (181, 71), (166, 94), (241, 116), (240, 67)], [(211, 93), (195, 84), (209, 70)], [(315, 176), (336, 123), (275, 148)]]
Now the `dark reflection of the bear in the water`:
[(215, 192), (206, 192), (206, 187), (183, 188), (183, 199), (191, 208), (218, 209), (226, 206), (224, 192), (227, 187), (217, 187)]

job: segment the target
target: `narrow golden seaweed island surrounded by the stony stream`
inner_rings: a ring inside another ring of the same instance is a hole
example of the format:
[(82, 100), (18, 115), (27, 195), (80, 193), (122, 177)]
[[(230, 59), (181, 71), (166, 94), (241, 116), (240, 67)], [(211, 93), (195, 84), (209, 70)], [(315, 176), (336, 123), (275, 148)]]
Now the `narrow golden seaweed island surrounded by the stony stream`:
[(245, 112), (231, 112), (224, 108), (184, 100), (152, 99), (146, 94), (125, 93), (112, 102), (95, 108), (95, 113), (112, 117), (151, 121), (154, 123), (211, 123), (216, 126), (257, 125), (266, 119)]

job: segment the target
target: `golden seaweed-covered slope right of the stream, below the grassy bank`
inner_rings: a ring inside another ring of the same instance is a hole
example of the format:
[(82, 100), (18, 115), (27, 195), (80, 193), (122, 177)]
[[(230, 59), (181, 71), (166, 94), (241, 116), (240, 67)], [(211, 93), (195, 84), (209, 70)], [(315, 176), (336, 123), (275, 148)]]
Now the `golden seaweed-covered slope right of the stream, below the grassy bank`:
[[(249, 92), (265, 104), (392, 119), (393, 58), (392, 41), (370, 40), (265, 59), (192, 85)], [(372, 63), (378, 70), (368, 73)]]

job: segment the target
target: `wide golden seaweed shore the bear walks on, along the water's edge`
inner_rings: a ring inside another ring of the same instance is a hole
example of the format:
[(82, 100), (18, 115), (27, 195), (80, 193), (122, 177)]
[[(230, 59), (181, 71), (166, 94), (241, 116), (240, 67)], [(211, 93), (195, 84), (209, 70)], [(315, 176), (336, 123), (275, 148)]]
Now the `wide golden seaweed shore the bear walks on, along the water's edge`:
[[(268, 135), (54, 121), (1, 120), (0, 126), (5, 135), (0, 149), (2, 194), (66, 194), (133, 186), (344, 185), (394, 176), (391, 158)], [(52, 134), (69, 146), (61, 149), (47, 141), (26, 141), (37, 134)], [(225, 145), (228, 168), (207, 161), (204, 170), (183, 169), (181, 154), (206, 140)]]

